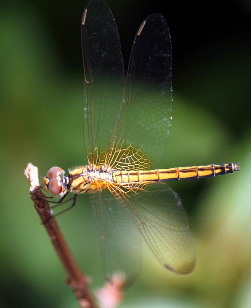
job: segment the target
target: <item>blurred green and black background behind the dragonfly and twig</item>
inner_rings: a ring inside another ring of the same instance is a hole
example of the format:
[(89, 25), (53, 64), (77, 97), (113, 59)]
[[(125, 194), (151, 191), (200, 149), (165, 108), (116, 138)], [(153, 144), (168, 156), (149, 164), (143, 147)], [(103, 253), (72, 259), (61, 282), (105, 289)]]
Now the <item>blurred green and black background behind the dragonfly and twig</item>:
[[(80, 20), (86, 1), (0, 2), (0, 307), (77, 302), (29, 199), (26, 163), (86, 162)], [(160, 167), (237, 161), (232, 175), (171, 183), (186, 209), (196, 268), (164, 270), (147, 247), (127, 307), (251, 306), (251, 5), (107, 0), (125, 65), (141, 21), (161, 13), (173, 46), (173, 122)], [(92, 290), (103, 285), (87, 196), (58, 223)]]

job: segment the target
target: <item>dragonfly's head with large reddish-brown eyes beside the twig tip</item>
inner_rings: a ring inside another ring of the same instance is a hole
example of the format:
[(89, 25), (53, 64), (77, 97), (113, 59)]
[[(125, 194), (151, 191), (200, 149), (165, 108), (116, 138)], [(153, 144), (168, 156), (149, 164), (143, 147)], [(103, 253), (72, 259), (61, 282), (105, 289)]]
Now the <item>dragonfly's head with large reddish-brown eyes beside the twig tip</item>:
[(46, 176), (43, 177), (43, 189), (48, 191), (53, 197), (62, 197), (67, 192), (67, 180), (64, 170), (60, 167), (51, 167)]

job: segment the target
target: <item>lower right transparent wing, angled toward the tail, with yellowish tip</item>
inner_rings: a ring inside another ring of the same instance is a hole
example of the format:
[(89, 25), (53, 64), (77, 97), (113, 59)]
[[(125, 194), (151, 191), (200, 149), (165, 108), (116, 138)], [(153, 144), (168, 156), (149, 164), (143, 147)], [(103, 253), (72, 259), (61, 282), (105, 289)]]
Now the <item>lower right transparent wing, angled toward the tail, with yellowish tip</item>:
[(194, 248), (178, 195), (165, 183), (149, 185), (144, 191), (131, 193), (125, 196), (116, 192), (117, 200), (158, 261), (174, 272), (191, 272)]

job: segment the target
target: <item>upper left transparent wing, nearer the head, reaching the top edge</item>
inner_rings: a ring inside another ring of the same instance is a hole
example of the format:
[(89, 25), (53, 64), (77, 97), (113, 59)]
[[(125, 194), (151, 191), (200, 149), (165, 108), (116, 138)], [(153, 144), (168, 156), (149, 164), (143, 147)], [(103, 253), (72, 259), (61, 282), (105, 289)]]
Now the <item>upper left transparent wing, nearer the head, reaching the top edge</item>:
[(119, 112), (124, 67), (114, 18), (102, 0), (85, 8), (81, 23), (85, 76), (84, 146), (90, 163), (98, 164), (107, 148)]

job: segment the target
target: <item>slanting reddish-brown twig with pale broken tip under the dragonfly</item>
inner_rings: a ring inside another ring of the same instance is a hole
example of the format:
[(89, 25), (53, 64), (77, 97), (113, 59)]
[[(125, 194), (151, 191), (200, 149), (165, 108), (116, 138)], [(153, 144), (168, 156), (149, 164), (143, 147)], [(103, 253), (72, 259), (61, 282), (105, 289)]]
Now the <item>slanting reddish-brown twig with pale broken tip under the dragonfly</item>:
[(73, 259), (56, 220), (52, 216), (52, 211), (48, 202), (46, 199), (38, 197), (38, 195), (44, 195), (39, 188), (37, 167), (29, 163), (24, 170), (24, 174), (30, 184), (29, 191), (31, 193), (35, 209), (40, 216), (43, 226), (45, 227), (57, 255), (68, 274), (68, 278), (66, 280), (67, 284), (74, 290), (75, 296), (77, 297), (79, 305), (82, 308), (95, 307), (95, 303), (87, 286), (88, 278), (80, 271), (75, 260)]

